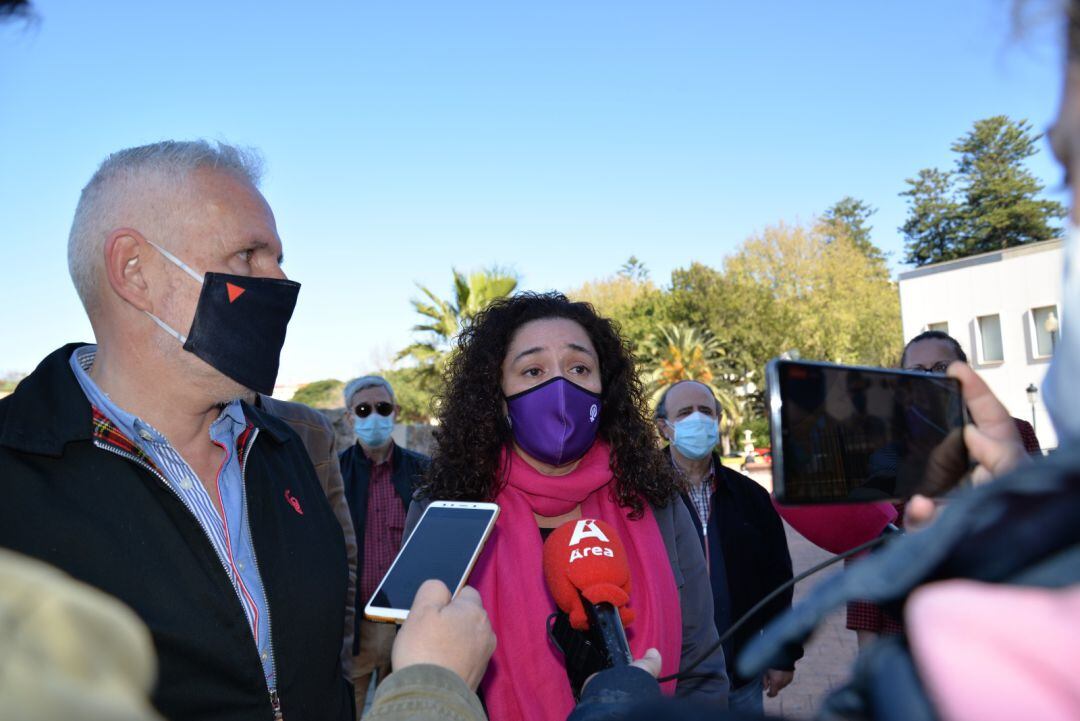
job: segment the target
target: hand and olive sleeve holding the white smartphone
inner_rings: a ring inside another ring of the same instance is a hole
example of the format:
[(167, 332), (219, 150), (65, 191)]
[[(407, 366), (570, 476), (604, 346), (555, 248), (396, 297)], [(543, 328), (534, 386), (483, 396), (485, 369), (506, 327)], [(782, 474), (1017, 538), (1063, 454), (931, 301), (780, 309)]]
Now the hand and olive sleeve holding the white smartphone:
[(480, 594), (465, 586), (451, 601), (445, 584), (426, 581), (394, 641), (394, 672), (364, 719), (486, 719), (475, 691), (494, 651)]

